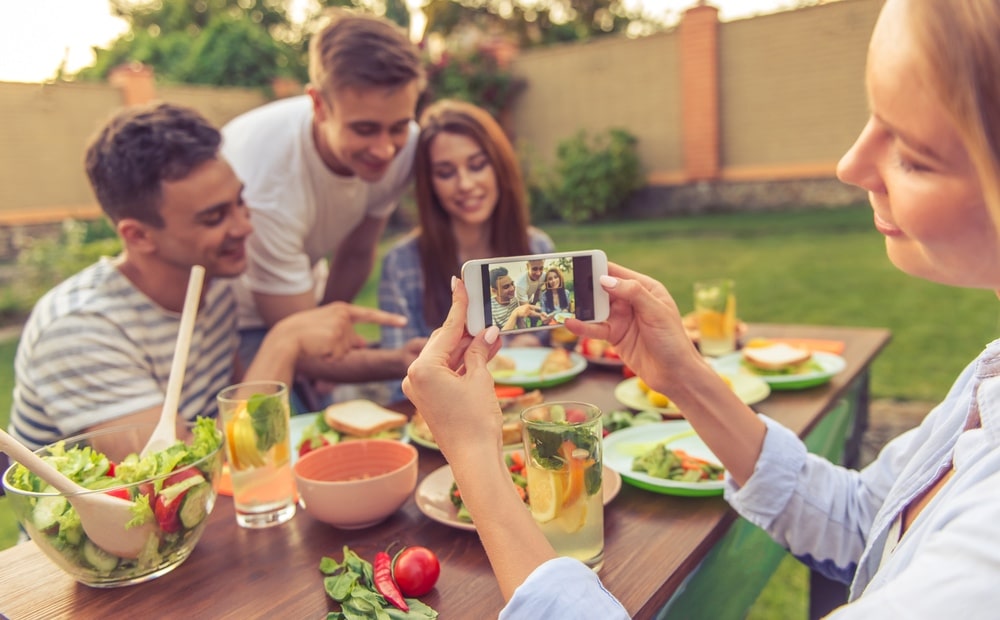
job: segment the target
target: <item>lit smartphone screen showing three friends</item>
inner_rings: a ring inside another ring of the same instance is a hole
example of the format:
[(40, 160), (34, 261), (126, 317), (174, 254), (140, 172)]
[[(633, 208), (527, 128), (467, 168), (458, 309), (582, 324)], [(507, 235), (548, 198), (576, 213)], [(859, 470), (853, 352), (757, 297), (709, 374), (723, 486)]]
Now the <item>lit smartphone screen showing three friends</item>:
[[(539, 316), (509, 328), (537, 329), (562, 324), (567, 318), (593, 321), (594, 265), (590, 255), (559, 256), (514, 262), (490, 262), (480, 267), (483, 319), (504, 329), (512, 308), (533, 304)], [(512, 300), (517, 300), (514, 303)]]

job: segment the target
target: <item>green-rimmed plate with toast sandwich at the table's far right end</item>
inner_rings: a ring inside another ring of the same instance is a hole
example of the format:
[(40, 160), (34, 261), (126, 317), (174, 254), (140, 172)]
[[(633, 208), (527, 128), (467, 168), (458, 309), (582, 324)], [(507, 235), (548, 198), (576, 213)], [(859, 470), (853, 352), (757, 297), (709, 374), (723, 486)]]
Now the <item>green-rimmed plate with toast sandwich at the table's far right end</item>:
[(847, 367), (839, 355), (810, 351), (786, 343), (746, 347), (712, 361), (729, 376), (756, 377), (773, 390), (802, 390), (823, 385)]

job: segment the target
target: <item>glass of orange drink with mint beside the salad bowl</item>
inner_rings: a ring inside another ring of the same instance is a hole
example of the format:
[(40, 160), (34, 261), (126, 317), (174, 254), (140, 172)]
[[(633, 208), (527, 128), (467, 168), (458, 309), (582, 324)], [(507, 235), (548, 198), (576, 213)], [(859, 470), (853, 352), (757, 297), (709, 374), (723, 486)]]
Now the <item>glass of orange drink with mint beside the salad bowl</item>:
[(263, 528), (288, 521), (295, 516), (288, 386), (239, 383), (219, 392), (218, 402), (236, 522)]

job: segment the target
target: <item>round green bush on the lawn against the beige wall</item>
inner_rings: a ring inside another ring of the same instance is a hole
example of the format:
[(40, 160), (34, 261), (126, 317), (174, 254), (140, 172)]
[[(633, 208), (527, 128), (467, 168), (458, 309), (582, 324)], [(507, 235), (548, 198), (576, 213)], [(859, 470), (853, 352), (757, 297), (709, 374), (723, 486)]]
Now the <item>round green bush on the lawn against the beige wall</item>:
[(567, 222), (587, 222), (620, 210), (644, 184), (636, 148), (624, 129), (588, 136), (580, 130), (559, 143), (548, 201)]

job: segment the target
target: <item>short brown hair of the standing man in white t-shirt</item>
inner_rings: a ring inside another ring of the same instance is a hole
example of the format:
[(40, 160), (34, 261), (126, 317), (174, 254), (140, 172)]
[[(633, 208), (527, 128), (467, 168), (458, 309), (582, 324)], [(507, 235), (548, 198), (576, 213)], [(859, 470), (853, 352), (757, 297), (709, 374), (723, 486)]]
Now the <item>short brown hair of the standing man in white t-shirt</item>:
[(309, 81), (330, 103), (345, 88), (399, 88), (417, 81), (424, 68), (416, 46), (395, 24), (373, 15), (330, 11), (330, 23), (309, 41)]

